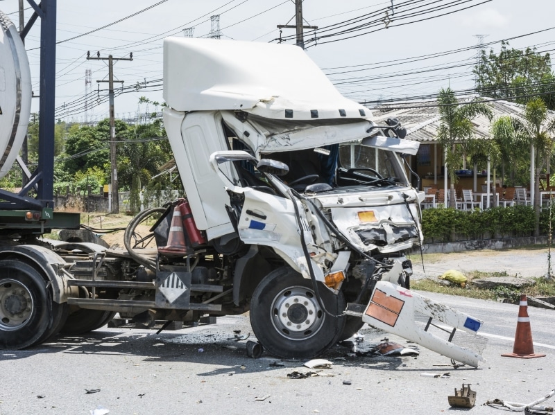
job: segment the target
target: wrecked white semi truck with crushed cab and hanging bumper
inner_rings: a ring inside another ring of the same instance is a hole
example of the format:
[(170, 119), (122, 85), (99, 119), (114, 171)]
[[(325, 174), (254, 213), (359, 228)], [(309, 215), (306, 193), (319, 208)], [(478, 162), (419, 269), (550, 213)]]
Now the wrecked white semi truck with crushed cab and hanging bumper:
[[(26, 60), (8, 37), (5, 24), (4, 68)], [(28, 69), (5, 72), (28, 81)], [(254, 42), (165, 39), (164, 99), (187, 198), (139, 213), (126, 249), (41, 240), (58, 224), (44, 209), (22, 213), (26, 227), (0, 225), (0, 348), (87, 333), (116, 312), (194, 324), (250, 310), (280, 357), (319, 355), (366, 322), (477, 366), (478, 353), (415, 322), (422, 312), (472, 334), (481, 324), (408, 290), (422, 194), (404, 164), (418, 143), (399, 138), (397, 121), (375, 125), (300, 48)], [(6, 141), (28, 112), (0, 119), (12, 122)], [(141, 237), (147, 218), (157, 220)]]

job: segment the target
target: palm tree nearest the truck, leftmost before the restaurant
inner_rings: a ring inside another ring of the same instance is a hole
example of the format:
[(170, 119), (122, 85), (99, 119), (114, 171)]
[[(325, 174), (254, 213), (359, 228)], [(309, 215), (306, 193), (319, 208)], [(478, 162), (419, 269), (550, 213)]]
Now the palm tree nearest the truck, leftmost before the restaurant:
[(442, 88), (437, 101), (440, 116), (437, 138), (445, 151), (445, 174), (451, 176), (449, 206), (455, 207), (455, 170), (461, 166), (466, 142), (475, 136), (472, 119), (480, 114), (491, 119), (492, 112), (488, 105), (476, 100), (459, 103), (451, 88)]

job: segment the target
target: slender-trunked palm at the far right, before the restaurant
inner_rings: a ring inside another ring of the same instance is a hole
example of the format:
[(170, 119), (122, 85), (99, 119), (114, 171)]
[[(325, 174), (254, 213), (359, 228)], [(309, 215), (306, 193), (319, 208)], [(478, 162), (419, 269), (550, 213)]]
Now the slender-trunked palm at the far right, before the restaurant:
[[(529, 100), (524, 107), (523, 118), (512, 118), (515, 132), (520, 139), (529, 143), (534, 156), (533, 209), (536, 213), (534, 236), (540, 234), (540, 172), (549, 163), (555, 132), (555, 117), (549, 115), (542, 98)], [(535, 153), (534, 153), (535, 152)]]

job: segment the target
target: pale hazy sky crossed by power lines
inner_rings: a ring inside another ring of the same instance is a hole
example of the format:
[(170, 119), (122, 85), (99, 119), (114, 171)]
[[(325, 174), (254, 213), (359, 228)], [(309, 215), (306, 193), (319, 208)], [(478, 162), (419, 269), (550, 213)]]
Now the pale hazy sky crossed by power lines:
[[(0, 10), (16, 26), (18, 4), (0, 0)], [(87, 60), (87, 51), (114, 58), (128, 58), (133, 52), (133, 61), (114, 64), (115, 79), (123, 80), (116, 84), (117, 90), (121, 85), (123, 89), (114, 107), (118, 118), (135, 118), (137, 113), (160, 109), (153, 102), (163, 102), (165, 36), (183, 36), (183, 29), (193, 28), (188, 32), (194, 37), (207, 37), (210, 17), (219, 15), (221, 39), (278, 42), (276, 26), (295, 23), (294, 0), (58, 0), (57, 4), (56, 118), (68, 122), (108, 117), (108, 84), (96, 82), (108, 80), (107, 62)], [(442, 9), (429, 10), (432, 7)], [(27, 1), (24, 8), (27, 21), (33, 10)], [(418, 98), (446, 87), (472, 89), (477, 35), (484, 35), (486, 45), (518, 37), (509, 41), (511, 47), (531, 46), (540, 52), (555, 47), (552, 0), (304, 0), (302, 8), (305, 24), (318, 26), (305, 32), (306, 53), (343, 95), (370, 107), (379, 105), (379, 100)], [(369, 22), (373, 23), (356, 32), (338, 33)], [(80, 36), (85, 33), (89, 34)], [(283, 42), (294, 43), (294, 35), (294, 29), (282, 29)], [(40, 94), (39, 39), (40, 19), (26, 37), (35, 95)], [(500, 45), (485, 47), (498, 52)], [(463, 50), (433, 56), (458, 49)], [(142, 96), (151, 103), (139, 103)], [(37, 110), (34, 99), (32, 112)]]

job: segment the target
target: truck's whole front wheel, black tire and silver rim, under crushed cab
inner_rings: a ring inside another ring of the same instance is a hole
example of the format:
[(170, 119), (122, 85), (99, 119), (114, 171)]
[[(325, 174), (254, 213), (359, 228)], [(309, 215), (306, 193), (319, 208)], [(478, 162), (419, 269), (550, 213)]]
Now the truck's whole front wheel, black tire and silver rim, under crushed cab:
[(284, 359), (309, 359), (336, 344), (343, 333), (343, 293), (332, 293), (318, 283), (324, 312), (312, 281), (290, 267), (268, 274), (257, 286), (250, 303), (250, 324), (270, 353)]

